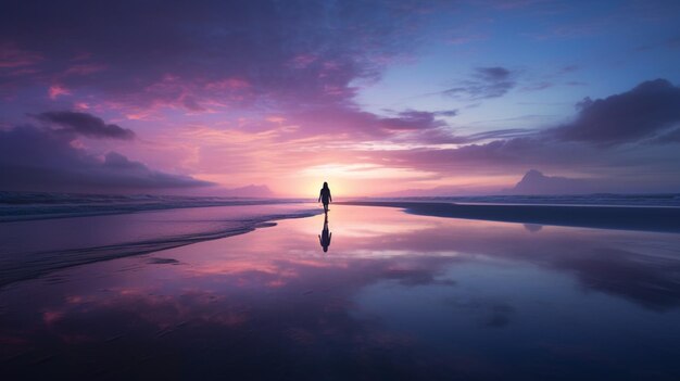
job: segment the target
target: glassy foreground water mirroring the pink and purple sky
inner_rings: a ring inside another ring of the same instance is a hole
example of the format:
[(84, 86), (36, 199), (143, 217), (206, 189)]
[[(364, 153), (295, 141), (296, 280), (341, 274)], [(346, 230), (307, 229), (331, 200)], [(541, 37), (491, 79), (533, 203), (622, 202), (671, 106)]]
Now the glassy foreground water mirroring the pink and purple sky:
[(324, 227), (323, 215), (287, 219), (5, 285), (0, 370), (10, 379), (680, 379), (680, 234), (362, 206), (331, 207), (329, 233)]

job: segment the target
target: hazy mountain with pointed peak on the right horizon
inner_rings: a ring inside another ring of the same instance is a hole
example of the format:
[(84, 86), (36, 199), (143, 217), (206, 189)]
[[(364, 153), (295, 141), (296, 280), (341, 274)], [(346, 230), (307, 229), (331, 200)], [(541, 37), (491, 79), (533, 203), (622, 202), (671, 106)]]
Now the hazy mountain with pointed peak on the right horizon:
[(531, 169), (514, 188), (503, 190), (505, 194), (581, 194), (604, 191), (599, 180), (545, 176)]

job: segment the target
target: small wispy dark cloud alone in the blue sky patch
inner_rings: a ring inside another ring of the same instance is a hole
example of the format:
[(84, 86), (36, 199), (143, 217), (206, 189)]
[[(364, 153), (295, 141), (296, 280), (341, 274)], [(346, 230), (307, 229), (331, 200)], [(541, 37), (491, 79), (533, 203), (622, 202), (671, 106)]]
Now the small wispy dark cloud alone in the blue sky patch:
[(513, 76), (509, 69), (501, 66), (477, 67), (470, 79), (462, 80), (442, 93), (468, 100), (499, 98), (515, 87)]

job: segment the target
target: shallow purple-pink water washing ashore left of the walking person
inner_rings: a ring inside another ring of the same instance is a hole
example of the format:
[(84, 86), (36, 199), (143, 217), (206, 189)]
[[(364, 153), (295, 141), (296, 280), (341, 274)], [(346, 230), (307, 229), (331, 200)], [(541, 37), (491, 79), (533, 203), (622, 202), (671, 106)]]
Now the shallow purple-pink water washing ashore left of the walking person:
[(230, 205), (0, 223), (0, 287), (60, 268), (245, 233), (313, 204)]

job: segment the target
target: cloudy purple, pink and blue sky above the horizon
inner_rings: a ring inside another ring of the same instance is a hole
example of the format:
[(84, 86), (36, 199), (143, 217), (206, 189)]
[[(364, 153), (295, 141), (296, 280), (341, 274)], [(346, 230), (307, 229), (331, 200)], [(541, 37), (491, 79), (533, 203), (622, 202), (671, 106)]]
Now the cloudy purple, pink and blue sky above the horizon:
[(680, 2), (8, 0), (0, 99), (0, 190), (680, 192)]

